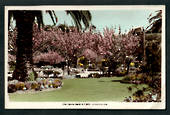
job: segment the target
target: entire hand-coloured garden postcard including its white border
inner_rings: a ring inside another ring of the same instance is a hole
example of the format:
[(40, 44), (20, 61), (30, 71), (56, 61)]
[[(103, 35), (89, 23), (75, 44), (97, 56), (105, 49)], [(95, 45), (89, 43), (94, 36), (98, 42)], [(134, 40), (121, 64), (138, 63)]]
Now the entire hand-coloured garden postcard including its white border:
[(165, 109), (165, 6), (6, 6), (6, 109)]

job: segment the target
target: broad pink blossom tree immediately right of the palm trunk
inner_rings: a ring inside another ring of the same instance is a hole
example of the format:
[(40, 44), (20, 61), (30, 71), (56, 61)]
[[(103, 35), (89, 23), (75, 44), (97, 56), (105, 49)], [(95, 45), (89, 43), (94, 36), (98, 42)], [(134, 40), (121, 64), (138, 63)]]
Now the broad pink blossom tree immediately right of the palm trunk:
[(97, 40), (99, 34), (88, 32), (80, 32), (76, 28), (70, 29), (69, 32), (63, 32), (59, 28), (51, 28), (49, 31), (36, 29), (33, 37), (34, 54), (38, 52), (55, 51), (59, 55), (70, 60), (71, 63), (76, 63), (78, 57), (89, 49), (93, 52), (98, 52)]

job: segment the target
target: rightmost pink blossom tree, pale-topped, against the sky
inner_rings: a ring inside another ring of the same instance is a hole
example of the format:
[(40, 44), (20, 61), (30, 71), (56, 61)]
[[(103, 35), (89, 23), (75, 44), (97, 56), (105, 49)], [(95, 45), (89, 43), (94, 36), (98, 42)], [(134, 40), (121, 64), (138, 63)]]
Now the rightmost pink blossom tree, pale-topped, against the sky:
[(104, 29), (99, 50), (109, 60), (109, 73), (116, 69), (118, 63), (124, 63), (126, 56), (135, 55), (140, 40), (140, 37), (130, 33), (116, 35), (113, 29)]

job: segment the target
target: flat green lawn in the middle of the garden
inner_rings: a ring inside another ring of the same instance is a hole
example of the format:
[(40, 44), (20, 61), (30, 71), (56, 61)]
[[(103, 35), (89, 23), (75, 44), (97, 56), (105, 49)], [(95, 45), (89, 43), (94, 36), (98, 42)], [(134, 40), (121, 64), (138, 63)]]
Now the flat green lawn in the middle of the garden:
[[(38, 93), (9, 94), (11, 101), (123, 101), (132, 95), (127, 87), (132, 84), (123, 84), (112, 80), (121, 80), (122, 77), (64, 79), (61, 89)], [(139, 88), (146, 85), (139, 85)]]

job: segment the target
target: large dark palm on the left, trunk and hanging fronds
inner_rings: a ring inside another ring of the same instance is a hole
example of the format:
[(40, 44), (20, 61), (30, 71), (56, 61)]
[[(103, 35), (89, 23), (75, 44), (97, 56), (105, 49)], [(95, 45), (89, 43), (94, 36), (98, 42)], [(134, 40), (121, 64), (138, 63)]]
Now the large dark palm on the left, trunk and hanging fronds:
[[(91, 16), (89, 11), (66, 11), (70, 14), (76, 22), (78, 29), (82, 29), (81, 21), (83, 21), (85, 27), (89, 27)], [(50, 14), (51, 19), (56, 24), (57, 20), (54, 11), (47, 11)], [(88, 15), (86, 15), (88, 14)], [(43, 26), (42, 11), (32, 10), (10, 10), (8, 13), (8, 25), (10, 25), (10, 19), (13, 17), (16, 20), (17, 27), (17, 53), (16, 53), (16, 67), (13, 72), (13, 79), (19, 81), (26, 81), (30, 71), (34, 72), (32, 61), (32, 47), (33, 47), (33, 23), (35, 18), (37, 19), (39, 28)], [(29, 71), (28, 71), (29, 70)], [(34, 72), (35, 73), (35, 72)], [(36, 73), (35, 73), (36, 74)]]

